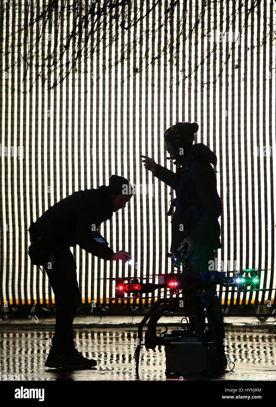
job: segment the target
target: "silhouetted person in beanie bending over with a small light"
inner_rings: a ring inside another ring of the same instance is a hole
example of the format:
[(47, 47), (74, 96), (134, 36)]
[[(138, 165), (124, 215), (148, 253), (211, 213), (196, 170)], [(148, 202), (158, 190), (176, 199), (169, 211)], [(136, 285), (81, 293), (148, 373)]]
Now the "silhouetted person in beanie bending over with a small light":
[[(50, 207), (29, 228), (29, 255), (33, 264), (43, 265), (55, 293), (55, 334), (45, 365), (53, 368), (84, 369), (97, 364), (75, 349), (73, 319), (81, 305), (77, 265), (69, 247), (79, 245), (104, 260), (123, 260), (130, 254), (114, 253), (108, 243), (95, 240), (100, 224), (113, 212), (125, 208), (134, 190), (129, 181), (112, 175), (109, 185), (74, 192)], [(95, 235), (96, 234), (96, 235)]]

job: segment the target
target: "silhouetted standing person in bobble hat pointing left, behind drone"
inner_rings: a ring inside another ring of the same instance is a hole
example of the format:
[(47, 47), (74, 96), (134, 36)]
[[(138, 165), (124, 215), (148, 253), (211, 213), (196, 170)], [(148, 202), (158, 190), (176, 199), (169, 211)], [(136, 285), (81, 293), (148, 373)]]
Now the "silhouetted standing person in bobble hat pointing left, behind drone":
[[(176, 123), (164, 133), (165, 149), (175, 160), (176, 173), (170, 171), (147, 156), (143, 161), (145, 168), (175, 190), (168, 215), (174, 209), (172, 224), (171, 252), (180, 245), (188, 244), (191, 254), (190, 265), (195, 274), (210, 270), (210, 260), (214, 261), (215, 250), (221, 247), (218, 218), (222, 212), (221, 199), (217, 193), (217, 179), (214, 168), (216, 155), (206, 145), (193, 144), (197, 123)], [(200, 258), (200, 262), (196, 261)], [(208, 327), (212, 339), (217, 341), (220, 365), (227, 366), (224, 353), (225, 331), (223, 313), (215, 285), (206, 288), (202, 301), (205, 302)], [(205, 324), (205, 321), (204, 321)]]

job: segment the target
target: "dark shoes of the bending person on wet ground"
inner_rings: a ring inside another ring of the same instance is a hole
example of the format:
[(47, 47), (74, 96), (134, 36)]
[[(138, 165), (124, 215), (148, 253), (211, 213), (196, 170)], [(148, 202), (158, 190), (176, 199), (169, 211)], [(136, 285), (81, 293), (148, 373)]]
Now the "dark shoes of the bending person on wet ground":
[(49, 352), (45, 362), (48, 368), (89, 369), (96, 366), (93, 359), (86, 359), (77, 349), (66, 353)]

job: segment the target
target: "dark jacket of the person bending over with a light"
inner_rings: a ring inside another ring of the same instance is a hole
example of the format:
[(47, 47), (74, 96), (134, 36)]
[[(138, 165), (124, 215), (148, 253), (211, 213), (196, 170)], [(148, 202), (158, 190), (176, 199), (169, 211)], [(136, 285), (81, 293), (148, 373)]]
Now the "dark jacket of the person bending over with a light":
[(114, 251), (94, 240), (93, 231), (111, 219), (112, 200), (108, 186), (74, 192), (51, 206), (33, 224), (33, 240), (40, 237), (47, 247), (79, 245), (104, 260)]

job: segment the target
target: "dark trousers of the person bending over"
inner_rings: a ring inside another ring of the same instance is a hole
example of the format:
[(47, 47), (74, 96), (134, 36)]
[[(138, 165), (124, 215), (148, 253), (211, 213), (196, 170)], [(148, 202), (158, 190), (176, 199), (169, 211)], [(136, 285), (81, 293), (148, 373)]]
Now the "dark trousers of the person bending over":
[(55, 334), (51, 352), (74, 350), (73, 319), (81, 305), (77, 265), (69, 248), (52, 249), (44, 257), (44, 267), (55, 293)]

